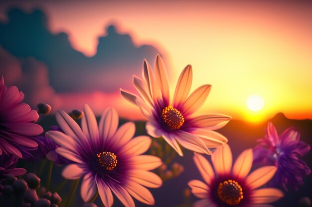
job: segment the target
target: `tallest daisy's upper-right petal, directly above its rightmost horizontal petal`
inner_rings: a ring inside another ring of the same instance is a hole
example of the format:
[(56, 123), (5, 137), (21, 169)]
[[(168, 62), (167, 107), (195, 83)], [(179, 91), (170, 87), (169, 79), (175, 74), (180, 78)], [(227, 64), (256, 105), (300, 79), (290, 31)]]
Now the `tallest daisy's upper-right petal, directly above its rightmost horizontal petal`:
[(206, 101), (210, 89), (211, 85), (202, 85), (194, 90), (183, 103), (182, 114), (190, 114), (197, 111)]

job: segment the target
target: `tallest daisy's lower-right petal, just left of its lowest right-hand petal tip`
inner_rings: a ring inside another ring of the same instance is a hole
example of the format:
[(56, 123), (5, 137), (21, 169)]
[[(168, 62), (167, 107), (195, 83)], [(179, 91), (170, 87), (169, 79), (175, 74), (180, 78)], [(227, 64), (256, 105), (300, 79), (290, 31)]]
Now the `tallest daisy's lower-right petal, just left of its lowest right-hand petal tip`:
[(172, 136), (174, 136), (174, 138), (186, 149), (199, 153), (210, 154), (210, 151), (208, 150), (205, 143), (195, 135), (184, 131), (179, 131), (176, 134), (172, 134)]

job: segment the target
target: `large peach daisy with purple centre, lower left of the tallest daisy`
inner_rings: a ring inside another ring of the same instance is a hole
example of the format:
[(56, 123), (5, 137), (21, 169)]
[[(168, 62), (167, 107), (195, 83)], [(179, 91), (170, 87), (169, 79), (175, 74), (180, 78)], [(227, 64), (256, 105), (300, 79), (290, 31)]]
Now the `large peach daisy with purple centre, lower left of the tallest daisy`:
[(112, 192), (126, 207), (135, 206), (131, 196), (142, 203), (154, 204), (152, 194), (144, 186), (161, 186), (161, 179), (149, 170), (162, 162), (158, 157), (141, 155), (148, 150), (151, 138), (133, 138), (133, 122), (117, 129), (118, 114), (114, 109), (107, 109), (98, 127), (88, 105), (84, 106), (82, 130), (64, 111), (56, 113), (56, 120), (64, 133), (49, 131), (46, 135), (60, 146), (56, 149), (59, 155), (74, 162), (64, 168), (63, 177), (83, 177), (81, 197), (84, 202), (90, 201), (98, 190), (105, 207), (113, 204)]

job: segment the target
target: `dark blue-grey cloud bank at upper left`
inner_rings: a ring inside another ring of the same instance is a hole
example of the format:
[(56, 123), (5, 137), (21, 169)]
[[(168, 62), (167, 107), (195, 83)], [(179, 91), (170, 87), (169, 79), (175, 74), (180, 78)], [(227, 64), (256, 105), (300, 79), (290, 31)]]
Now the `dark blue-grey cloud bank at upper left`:
[(136, 47), (129, 35), (109, 26), (107, 36), (99, 38), (96, 55), (88, 58), (72, 48), (66, 33), (49, 31), (42, 11), (25, 13), (14, 8), (7, 16), (8, 22), (0, 23), (0, 45), (16, 57), (34, 57), (45, 63), (50, 84), (57, 92), (130, 88), (132, 75), (141, 74), (143, 60), (154, 63), (159, 53), (152, 46)]

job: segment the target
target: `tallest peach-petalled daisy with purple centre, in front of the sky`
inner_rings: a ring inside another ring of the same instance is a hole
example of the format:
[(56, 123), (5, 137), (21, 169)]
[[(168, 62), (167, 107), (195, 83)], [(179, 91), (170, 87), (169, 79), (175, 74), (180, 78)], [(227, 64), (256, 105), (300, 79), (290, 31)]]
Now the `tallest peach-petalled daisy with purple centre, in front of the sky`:
[(193, 115), (204, 104), (211, 85), (202, 85), (188, 96), (192, 84), (190, 65), (181, 72), (171, 102), (167, 72), (159, 55), (156, 57), (155, 71), (145, 60), (143, 79), (134, 75), (133, 84), (142, 98), (121, 89), (122, 96), (137, 105), (148, 118), (147, 133), (155, 138), (163, 137), (180, 156), (183, 153), (178, 142), (187, 149), (206, 154), (211, 154), (207, 147), (217, 147), (227, 142), (224, 136), (211, 130), (223, 127), (230, 117), (219, 114)]

